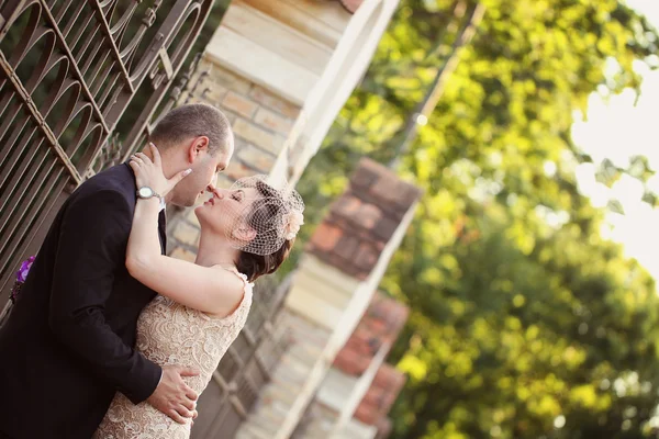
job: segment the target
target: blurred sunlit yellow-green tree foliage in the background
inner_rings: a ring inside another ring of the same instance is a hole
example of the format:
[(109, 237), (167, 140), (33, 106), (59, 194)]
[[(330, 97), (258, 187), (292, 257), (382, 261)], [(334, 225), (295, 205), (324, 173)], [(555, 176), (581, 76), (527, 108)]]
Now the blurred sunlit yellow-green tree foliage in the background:
[[(589, 158), (570, 127), (591, 92), (638, 89), (633, 64), (651, 60), (659, 36), (616, 0), (483, 3), (399, 169), (425, 195), (381, 284), (412, 308), (392, 353), (410, 376), (392, 437), (657, 437), (655, 283), (600, 237), (603, 212), (576, 187)], [(314, 199), (308, 224), (356, 158), (392, 159), (450, 53), (455, 4), (401, 2), (298, 185)], [(646, 181), (652, 170), (638, 157), (628, 169), (604, 164), (599, 178), (622, 173)]]

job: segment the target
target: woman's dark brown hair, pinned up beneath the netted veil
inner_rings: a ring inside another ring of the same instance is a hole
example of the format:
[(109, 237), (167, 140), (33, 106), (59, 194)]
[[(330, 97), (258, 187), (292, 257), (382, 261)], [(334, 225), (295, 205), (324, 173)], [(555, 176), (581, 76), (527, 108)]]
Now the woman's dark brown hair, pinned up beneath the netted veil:
[[(278, 191), (276, 191), (275, 189), (270, 188), (268, 184), (258, 181), (256, 183), (256, 189), (259, 191), (259, 193), (261, 195), (264, 195), (264, 198), (279, 198), (281, 199), (281, 195), (279, 194)], [(253, 224), (253, 221), (259, 216), (259, 215), (268, 215), (268, 217), (270, 218), (278, 218), (281, 216), (281, 213), (279, 212), (281, 209), (284, 209), (284, 203), (268, 203), (268, 202), (261, 202), (259, 203), (259, 201), (255, 201), (254, 202), (254, 207), (252, 210), (252, 213), (249, 214), (249, 217), (247, 218), (247, 223), (252, 226), (254, 226), (256, 228), (256, 225)], [(263, 210), (266, 210), (266, 212), (260, 212)], [(258, 212), (258, 215), (257, 215)], [(264, 232), (264, 235), (261, 238), (265, 240), (268, 240), (268, 236), (267, 235), (276, 235), (277, 233), (281, 233), (278, 232), (276, 228), (272, 228), (270, 230), (266, 230)], [(272, 237), (272, 239), (276, 239), (276, 237)], [(255, 255), (255, 254), (248, 254), (246, 251), (241, 251), (241, 255), (238, 256), (238, 260), (236, 261), (236, 269), (241, 272), (244, 273), (247, 277), (247, 280), (249, 282), (254, 282), (256, 279), (258, 279), (259, 277), (264, 275), (264, 274), (271, 274), (275, 271), (277, 271), (277, 269), (283, 263), (284, 260), (287, 260), (291, 248), (293, 247), (293, 244), (295, 241), (295, 238), (293, 239), (287, 239), (283, 241), (283, 244), (281, 245), (281, 247), (276, 250), (275, 252), (270, 254), (270, 255)]]

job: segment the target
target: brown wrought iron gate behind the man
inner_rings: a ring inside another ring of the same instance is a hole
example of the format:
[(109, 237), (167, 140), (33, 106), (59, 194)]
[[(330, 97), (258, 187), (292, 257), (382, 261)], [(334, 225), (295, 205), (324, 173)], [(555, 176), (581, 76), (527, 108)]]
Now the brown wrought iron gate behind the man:
[(144, 140), (212, 3), (0, 0), (0, 309), (70, 190)]

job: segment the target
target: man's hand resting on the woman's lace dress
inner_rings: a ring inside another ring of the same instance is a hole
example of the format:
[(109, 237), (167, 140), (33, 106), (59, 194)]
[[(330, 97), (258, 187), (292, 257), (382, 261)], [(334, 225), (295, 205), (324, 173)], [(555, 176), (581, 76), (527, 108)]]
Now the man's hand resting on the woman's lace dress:
[(190, 389), (182, 376), (197, 376), (199, 371), (178, 365), (163, 367), (163, 378), (147, 402), (179, 424), (194, 418), (199, 395)]

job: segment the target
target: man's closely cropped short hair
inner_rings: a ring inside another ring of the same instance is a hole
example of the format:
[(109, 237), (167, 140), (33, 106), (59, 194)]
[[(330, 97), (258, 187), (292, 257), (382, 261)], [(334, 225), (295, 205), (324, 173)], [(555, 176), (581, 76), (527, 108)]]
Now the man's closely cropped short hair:
[(174, 145), (198, 137), (209, 138), (209, 153), (224, 151), (232, 135), (231, 123), (220, 110), (205, 103), (191, 103), (169, 111), (158, 121), (149, 136), (158, 148), (167, 149)]

